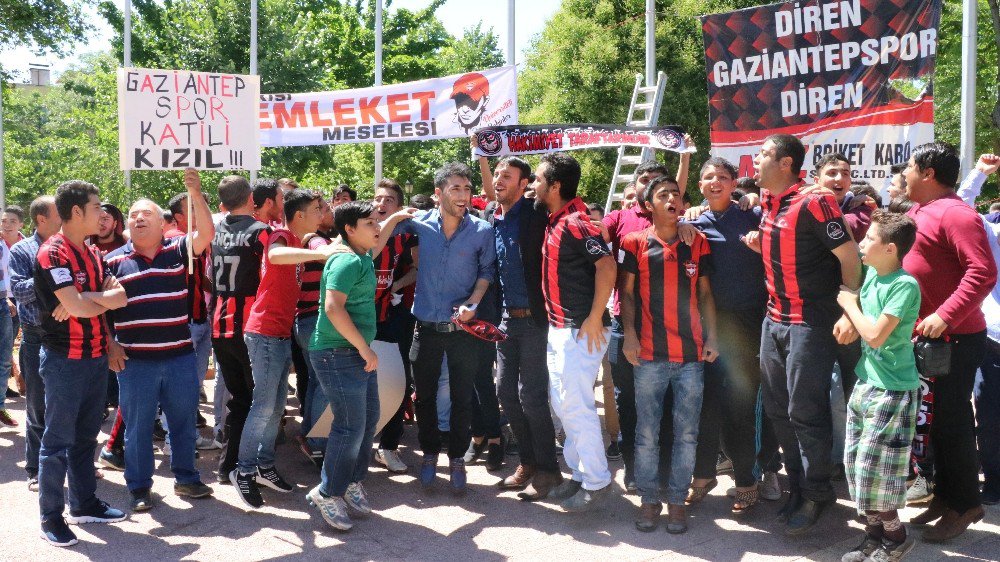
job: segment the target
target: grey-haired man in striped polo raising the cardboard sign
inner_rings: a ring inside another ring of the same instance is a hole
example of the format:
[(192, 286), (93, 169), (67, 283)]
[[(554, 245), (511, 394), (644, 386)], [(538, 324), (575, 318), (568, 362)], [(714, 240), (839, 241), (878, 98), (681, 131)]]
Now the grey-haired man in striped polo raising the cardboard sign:
[(108, 253), (104, 262), (129, 295), (114, 314), (112, 371), (118, 373), (120, 403), (125, 419), (125, 483), (132, 510), (153, 507), (153, 421), (163, 408), (170, 437), (170, 469), (174, 493), (201, 498), (212, 489), (201, 482), (194, 466), (199, 377), (189, 325), (187, 264), (189, 253), (199, 259), (215, 230), (211, 211), (201, 194), (198, 172), (184, 173), (188, 196), (195, 201), (190, 237), (166, 239), (163, 211), (139, 199), (129, 209), (130, 240)]

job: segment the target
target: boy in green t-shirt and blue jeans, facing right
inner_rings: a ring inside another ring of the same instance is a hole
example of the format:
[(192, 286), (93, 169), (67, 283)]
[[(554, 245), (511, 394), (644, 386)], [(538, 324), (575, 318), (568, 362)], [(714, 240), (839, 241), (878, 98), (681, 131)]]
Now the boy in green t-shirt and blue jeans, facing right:
[(333, 424), (326, 442), (319, 486), (306, 499), (334, 529), (354, 524), (348, 507), (367, 515), (371, 506), (361, 482), (379, 419), (378, 357), (375, 339), (375, 267), (371, 250), (379, 225), (368, 202), (349, 202), (334, 210), (333, 221), (351, 250), (326, 262), (320, 278), (321, 314), (309, 342), (316, 379), (330, 401)]

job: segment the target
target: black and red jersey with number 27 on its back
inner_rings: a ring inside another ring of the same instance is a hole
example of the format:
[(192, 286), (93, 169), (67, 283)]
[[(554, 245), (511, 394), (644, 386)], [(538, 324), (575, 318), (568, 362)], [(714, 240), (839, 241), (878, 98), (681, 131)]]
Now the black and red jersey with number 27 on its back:
[(250, 215), (227, 215), (212, 239), (212, 337), (242, 338), (260, 286), (271, 228)]

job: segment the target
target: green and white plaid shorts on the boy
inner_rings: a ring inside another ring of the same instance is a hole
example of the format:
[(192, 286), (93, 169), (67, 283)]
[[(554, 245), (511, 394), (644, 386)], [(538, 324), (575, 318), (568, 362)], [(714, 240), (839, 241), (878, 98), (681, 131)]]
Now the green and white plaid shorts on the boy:
[(858, 381), (847, 404), (847, 484), (858, 513), (906, 506), (918, 390), (885, 390)]

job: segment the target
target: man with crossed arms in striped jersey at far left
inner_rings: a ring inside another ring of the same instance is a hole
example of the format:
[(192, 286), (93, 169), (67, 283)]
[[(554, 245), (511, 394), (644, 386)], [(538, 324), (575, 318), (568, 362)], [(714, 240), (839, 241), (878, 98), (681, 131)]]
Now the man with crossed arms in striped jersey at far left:
[[(95, 495), (94, 449), (107, 394), (108, 329), (103, 315), (125, 306), (118, 280), (105, 275), (87, 236), (99, 231), (100, 193), (73, 180), (56, 189), (62, 230), (39, 248), (34, 282), (42, 314), (39, 372), (45, 383), (45, 431), (39, 452), (42, 536), (55, 546), (77, 538), (70, 523), (113, 523), (125, 514)], [(63, 486), (69, 474), (69, 514)]]

